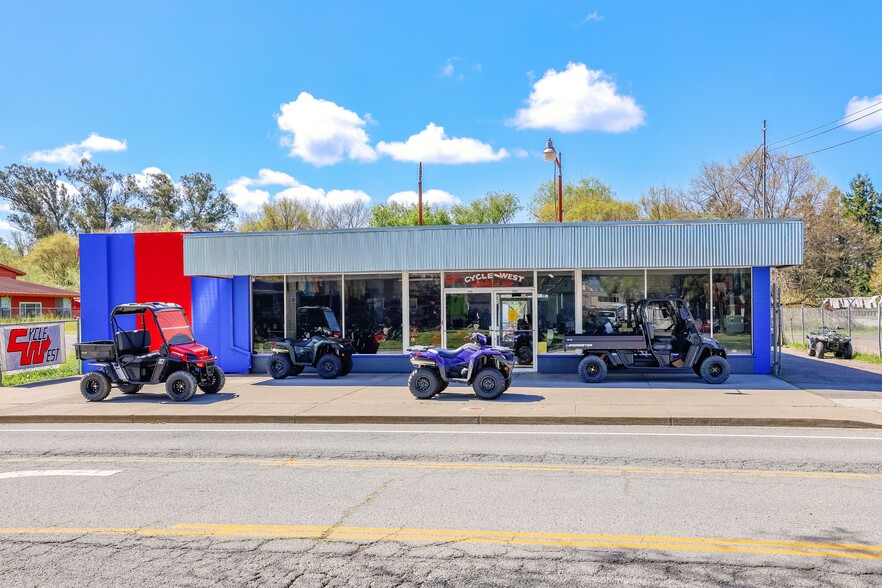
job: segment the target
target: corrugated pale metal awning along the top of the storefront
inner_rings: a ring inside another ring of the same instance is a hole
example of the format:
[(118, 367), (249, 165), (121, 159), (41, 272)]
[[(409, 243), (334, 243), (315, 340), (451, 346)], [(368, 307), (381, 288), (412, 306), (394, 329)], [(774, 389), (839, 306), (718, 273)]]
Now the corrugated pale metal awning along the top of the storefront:
[(390, 227), (184, 236), (184, 273), (799, 265), (801, 219)]

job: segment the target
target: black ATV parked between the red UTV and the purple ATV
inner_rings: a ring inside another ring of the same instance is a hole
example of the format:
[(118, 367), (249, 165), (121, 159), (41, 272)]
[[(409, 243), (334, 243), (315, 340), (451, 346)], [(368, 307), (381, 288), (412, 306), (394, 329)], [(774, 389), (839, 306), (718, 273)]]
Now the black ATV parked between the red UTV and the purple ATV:
[(301, 306), (295, 316), (296, 338), (272, 343), (266, 371), (276, 380), (297, 376), (306, 366), (330, 379), (352, 371), (352, 342), (343, 338), (337, 317), (327, 306)]

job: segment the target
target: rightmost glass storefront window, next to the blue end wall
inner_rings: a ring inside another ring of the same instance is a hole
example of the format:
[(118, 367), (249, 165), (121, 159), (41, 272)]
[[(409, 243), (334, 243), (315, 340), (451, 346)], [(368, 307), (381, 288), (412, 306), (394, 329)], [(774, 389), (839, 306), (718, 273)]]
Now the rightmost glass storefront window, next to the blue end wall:
[(714, 337), (728, 353), (751, 353), (750, 269), (714, 269)]

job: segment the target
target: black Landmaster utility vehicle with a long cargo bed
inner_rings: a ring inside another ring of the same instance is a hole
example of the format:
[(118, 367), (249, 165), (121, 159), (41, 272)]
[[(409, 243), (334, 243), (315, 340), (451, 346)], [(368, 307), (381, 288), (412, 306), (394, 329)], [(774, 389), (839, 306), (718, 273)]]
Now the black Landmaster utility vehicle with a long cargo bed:
[(647, 372), (693, 370), (709, 384), (722, 384), (731, 373), (726, 350), (698, 332), (682, 298), (647, 298), (632, 307), (633, 328), (611, 325), (595, 334), (564, 337), (564, 348), (582, 351), (579, 376), (588, 384), (604, 380), (609, 369)]

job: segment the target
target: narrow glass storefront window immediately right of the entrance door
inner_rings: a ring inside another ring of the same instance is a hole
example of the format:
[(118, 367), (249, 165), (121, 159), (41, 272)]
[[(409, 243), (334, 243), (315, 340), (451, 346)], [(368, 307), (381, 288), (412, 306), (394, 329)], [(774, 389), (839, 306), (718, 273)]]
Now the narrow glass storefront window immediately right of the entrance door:
[(573, 272), (538, 272), (536, 293), (539, 296), (539, 353), (560, 351), (563, 336), (576, 332)]

